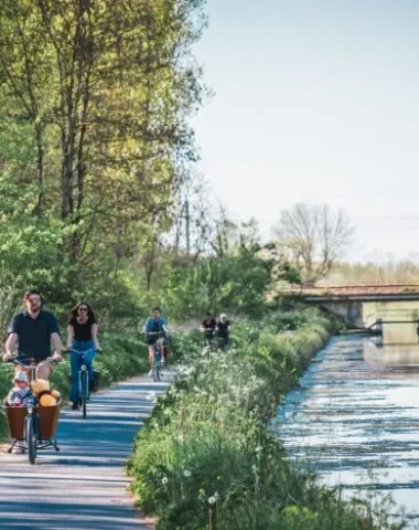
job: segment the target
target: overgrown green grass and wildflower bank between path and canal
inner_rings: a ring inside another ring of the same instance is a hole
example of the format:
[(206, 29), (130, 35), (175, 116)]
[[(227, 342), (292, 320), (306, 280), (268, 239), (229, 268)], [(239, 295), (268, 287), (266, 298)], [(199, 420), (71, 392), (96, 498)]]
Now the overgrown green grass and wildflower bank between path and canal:
[(138, 504), (159, 530), (402, 528), (389, 522), (389, 504), (343, 501), (293, 467), (267, 426), (329, 324), (311, 309), (243, 321), (225, 353), (203, 354), (194, 331), (175, 338), (180, 374), (157, 400), (128, 464)]

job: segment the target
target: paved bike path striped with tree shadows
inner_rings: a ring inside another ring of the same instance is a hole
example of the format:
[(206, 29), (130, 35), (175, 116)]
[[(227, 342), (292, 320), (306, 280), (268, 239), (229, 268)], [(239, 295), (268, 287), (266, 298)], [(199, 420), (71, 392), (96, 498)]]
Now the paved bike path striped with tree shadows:
[(93, 395), (85, 420), (79, 411), (63, 409), (61, 451), (39, 452), (33, 466), (26, 455), (2, 451), (0, 529), (150, 529), (152, 521), (133, 508), (123, 463), (153, 394), (166, 384), (147, 375), (118, 383)]

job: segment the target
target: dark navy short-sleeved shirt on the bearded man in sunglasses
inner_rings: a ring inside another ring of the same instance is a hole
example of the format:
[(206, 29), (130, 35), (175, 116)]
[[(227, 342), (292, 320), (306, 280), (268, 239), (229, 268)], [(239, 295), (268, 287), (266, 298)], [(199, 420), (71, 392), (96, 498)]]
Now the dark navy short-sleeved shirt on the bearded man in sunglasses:
[(8, 333), (18, 333), (18, 359), (34, 357), (36, 362), (51, 356), (51, 333), (58, 333), (58, 322), (52, 312), (41, 310), (36, 318), (26, 311), (12, 318)]

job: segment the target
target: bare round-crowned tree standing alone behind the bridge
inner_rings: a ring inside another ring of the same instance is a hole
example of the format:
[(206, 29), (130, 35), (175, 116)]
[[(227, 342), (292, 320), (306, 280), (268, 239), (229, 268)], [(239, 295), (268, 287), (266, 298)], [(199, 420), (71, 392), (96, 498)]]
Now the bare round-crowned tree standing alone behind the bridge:
[(354, 229), (343, 210), (298, 203), (281, 211), (273, 232), (280, 252), (298, 267), (303, 283), (313, 284), (345, 253)]

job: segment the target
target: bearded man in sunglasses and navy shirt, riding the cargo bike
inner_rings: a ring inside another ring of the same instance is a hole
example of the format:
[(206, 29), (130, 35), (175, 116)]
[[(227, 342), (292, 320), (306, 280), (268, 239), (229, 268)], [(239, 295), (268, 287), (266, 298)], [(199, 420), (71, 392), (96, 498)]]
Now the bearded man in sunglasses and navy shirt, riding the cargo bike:
[[(14, 315), (9, 328), (3, 361), (11, 361), (18, 343), (17, 360), (24, 364), (37, 364), (51, 356), (51, 343), (54, 347), (53, 358), (61, 361), (62, 343), (58, 322), (50, 311), (42, 309), (41, 293), (36, 289), (26, 290), (23, 297), (26, 310)], [(17, 370), (21, 370), (20, 367)], [(43, 364), (36, 371), (36, 377), (49, 379), (52, 372), (50, 363)]]

